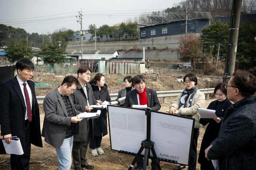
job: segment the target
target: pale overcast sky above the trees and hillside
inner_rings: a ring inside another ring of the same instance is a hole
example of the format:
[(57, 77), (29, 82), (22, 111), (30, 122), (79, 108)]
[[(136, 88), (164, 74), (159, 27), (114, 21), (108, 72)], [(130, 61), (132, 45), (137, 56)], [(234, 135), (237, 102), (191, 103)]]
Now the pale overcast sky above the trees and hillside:
[(47, 34), (65, 27), (80, 30), (76, 16), (82, 8), (82, 26), (110, 26), (140, 14), (172, 8), (174, 0), (0, 0), (0, 24)]

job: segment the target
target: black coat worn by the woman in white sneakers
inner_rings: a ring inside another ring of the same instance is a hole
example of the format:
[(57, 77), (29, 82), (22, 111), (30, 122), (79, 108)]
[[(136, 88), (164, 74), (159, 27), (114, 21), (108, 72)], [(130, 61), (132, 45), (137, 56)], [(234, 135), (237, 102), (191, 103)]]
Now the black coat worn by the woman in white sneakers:
[[(101, 91), (99, 91), (99, 87), (94, 83), (91, 84), (93, 88), (93, 95), (96, 100), (101, 100), (104, 102), (105, 100), (111, 102), (111, 98), (108, 92), (108, 87), (104, 84), (101, 87)], [(92, 110), (92, 112), (97, 112), (97, 109)], [(101, 109), (101, 115), (96, 119), (89, 119), (92, 121), (92, 136), (93, 137), (101, 137), (108, 134), (108, 125), (107, 125), (107, 109)]]

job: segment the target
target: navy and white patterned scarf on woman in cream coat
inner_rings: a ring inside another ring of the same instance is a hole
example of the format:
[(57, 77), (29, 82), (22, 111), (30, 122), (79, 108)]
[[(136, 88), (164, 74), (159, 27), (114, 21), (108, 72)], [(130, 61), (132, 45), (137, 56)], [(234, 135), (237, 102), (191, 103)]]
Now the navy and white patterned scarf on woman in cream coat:
[[(182, 92), (180, 96), (180, 104), (179, 108), (184, 108), (184, 107), (190, 107), (191, 106), (191, 101), (193, 97), (196, 94), (196, 91), (198, 88), (196, 86), (192, 87), (191, 89), (185, 88), (185, 90)], [(188, 97), (191, 95), (191, 98), (188, 100)]]

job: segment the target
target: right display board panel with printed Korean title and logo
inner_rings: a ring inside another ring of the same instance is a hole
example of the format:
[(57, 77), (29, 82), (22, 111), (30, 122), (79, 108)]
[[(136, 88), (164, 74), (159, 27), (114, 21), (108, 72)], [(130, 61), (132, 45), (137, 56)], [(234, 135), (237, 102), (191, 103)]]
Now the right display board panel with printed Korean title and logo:
[(154, 142), (157, 157), (188, 165), (194, 124), (193, 118), (151, 111), (150, 140)]

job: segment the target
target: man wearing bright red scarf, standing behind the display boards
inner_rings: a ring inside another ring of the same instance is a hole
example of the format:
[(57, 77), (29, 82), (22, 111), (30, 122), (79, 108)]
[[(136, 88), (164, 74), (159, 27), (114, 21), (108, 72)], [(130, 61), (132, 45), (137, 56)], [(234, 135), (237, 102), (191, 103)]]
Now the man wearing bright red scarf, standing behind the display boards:
[[(161, 108), (159, 103), (157, 92), (150, 88), (146, 88), (145, 78), (143, 75), (136, 75), (133, 77), (133, 83), (135, 90), (132, 90), (126, 94), (124, 106), (131, 107), (133, 104), (145, 105), (150, 107), (151, 110), (158, 111)], [(154, 159), (151, 159), (152, 170), (157, 170)], [(137, 166), (133, 170), (140, 170), (143, 168), (143, 158), (140, 157), (137, 161)]]

